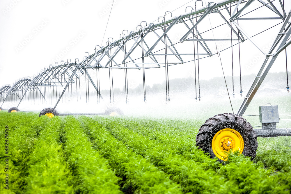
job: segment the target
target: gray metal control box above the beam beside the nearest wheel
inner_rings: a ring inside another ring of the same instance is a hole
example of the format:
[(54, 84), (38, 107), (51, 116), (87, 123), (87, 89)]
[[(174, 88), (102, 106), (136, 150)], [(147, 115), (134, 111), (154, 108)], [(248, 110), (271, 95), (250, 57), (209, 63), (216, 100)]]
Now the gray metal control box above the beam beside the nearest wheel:
[(261, 123), (278, 123), (278, 106), (259, 106)]

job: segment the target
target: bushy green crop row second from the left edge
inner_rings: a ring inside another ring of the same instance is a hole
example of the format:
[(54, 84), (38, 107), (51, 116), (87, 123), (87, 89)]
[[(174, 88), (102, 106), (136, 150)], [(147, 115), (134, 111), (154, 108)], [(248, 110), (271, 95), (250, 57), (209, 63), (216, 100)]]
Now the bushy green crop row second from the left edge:
[(34, 141), (29, 155), (26, 193), (70, 193), (72, 175), (64, 161), (59, 143), (61, 118), (52, 118)]

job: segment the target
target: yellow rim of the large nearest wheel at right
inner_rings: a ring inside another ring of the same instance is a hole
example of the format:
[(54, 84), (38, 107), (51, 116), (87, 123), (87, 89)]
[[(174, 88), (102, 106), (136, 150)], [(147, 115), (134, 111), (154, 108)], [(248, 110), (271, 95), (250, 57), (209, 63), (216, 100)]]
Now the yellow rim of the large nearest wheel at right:
[(212, 139), (212, 151), (219, 159), (226, 161), (227, 152), (232, 149), (241, 154), (244, 150), (244, 139), (235, 129), (222, 129), (218, 131)]

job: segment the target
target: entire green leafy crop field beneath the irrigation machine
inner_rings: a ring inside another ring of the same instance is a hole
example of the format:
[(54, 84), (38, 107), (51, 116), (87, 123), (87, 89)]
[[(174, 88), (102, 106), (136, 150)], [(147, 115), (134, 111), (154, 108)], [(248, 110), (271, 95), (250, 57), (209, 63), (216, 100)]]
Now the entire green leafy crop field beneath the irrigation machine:
[(291, 137), (258, 138), (253, 161), (231, 153), (220, 163), (195, 146), (201, 120), (1, 111), (0, 123), (0, 193), (291, 191)]

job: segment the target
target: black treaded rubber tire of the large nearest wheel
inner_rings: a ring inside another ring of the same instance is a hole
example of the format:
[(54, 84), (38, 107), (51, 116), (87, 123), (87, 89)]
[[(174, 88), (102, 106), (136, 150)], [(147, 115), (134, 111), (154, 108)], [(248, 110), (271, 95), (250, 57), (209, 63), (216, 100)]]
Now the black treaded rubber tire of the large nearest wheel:
[[(218, 131), (226, 128), (235, 129), (241, 134), (244, 140), (242, 154), (250, 156), (253, 160), (258, 148), (257, 135), (246, 119), (233, 113), (218, 114), (207, 119), (196, 136), (196, 146), (214, 158), (212, 139)], [(222, 160), (218, 160), (222, 162)]]

